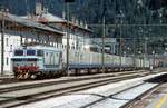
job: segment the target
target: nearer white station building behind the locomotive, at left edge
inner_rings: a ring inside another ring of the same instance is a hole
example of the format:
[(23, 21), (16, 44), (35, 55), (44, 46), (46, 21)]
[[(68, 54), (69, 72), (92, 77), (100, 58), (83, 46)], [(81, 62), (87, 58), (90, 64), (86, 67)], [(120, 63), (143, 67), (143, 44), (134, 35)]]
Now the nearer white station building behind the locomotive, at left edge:
[[(2, 26), (2, 23), (4, 23)], [(3, 60), (3, 71), (1, 75), (12, 75), (11, 57), (16, 48), (26, 43), (41, 43), (62, 48), (63, 32), (52, 29), (36, 21), (26, 20), (17, 16), (0, 12), (0, 67)], [(2, 33), (2, 29), (4, 32)], [(1, 42), (3, 36), (3, 50)], [(3, 52), (3, 58), (1, 52)]]

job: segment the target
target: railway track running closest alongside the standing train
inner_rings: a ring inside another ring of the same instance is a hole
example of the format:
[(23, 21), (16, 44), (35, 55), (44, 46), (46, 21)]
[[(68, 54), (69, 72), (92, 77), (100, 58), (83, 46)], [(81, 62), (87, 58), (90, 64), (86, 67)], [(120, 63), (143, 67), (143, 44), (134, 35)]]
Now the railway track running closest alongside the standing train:
[(4, 90), (7, 88), (12, 88), (12, 87), (24, 87), (24, 86), (30, 86), (30, 85), (38, 85), (38, 86), (47, 86), (48, 84), (60, 84), (60, 82), (66, 82), (66, 81), (78, 81), (78, 80), (89, 80), (89, 79), (99, 79), (101, 77), (115, 77), (115, 76), (122, 76), (122, 75), (131, 75), (131, 73), (149, 73), (147, 71), (124, 71), (124, 72), (112, 72), (112, 73), (102, 73), (102, 75), (94, 75), (94, 76), (80, 76), (80, 77), (61, 77), (61, 78), (56, 78), (56, 79), (42, 79), (42, 80), (17, 80), (13, 78), (6, 78), (1, 79), (2, 84), (0, 84), (0, 90)]

